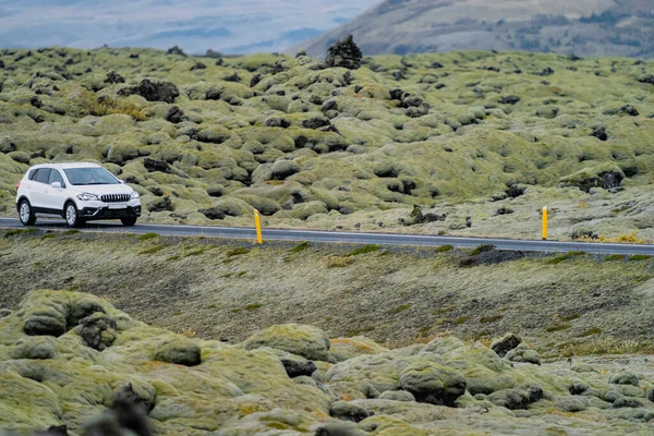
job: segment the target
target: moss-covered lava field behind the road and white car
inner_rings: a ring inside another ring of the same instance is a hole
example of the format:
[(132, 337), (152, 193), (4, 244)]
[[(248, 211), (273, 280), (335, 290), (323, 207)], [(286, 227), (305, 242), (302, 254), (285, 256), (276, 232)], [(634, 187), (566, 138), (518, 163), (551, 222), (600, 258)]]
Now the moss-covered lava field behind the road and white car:
[(433, 232), (520, 234), (526, 218), (537, 234), (557, 201), (561, 238), (597, 217), (617, 219), (607, 234), (653, 228), (644, 61), (451, 52), (348, 70), (49, 48), (0, 62), (7, 215), (29, 165), (88, 159), (135, 186), (144, 221), (251, 225), (256, 207), (266, 226), (409, 230), (398, 220), (420, 206)]

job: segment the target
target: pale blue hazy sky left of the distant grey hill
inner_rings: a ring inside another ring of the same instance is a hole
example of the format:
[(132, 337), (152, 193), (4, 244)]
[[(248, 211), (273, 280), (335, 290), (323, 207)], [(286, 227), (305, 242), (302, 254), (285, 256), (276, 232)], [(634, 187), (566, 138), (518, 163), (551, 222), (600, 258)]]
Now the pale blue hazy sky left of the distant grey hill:
[(0, 47), (282, 51), (378, 0), (0, 0)]

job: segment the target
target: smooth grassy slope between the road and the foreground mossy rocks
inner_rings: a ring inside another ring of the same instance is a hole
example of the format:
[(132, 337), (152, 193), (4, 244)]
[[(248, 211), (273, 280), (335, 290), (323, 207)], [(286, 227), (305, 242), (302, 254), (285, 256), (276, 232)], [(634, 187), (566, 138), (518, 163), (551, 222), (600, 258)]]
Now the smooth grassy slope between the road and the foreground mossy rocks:
[(391, 347), (512, 331), (547, 354), (589, 354), (650, 350), (654, 325), (649, 258), (38, 231), (0, 233), (0, 258), (11, 278), (0, 307), (34, 289), (83, 291), (147, 323), (229, 341), (296, 322)]

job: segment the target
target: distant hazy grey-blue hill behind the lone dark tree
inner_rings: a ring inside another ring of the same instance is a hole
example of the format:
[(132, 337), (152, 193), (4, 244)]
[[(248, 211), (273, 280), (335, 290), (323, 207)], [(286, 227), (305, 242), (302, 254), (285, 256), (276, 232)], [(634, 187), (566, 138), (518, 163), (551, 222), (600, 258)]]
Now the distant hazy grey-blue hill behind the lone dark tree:
[(353, 34), (365, 55), (525, 50), (654, 57), (654, 10), (642, 0), (386, 0), (299, 47), (323, 56)]

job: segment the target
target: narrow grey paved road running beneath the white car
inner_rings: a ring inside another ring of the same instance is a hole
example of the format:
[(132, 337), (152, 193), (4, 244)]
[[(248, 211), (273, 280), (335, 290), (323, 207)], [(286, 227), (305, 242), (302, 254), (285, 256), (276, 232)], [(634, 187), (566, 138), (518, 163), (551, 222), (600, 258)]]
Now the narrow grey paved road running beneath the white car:
[[(63, 220), (40, 218), (37, 226), (41, 230), (65, 230)], [(17, 219), (0, 218), (0, 228), (22, 228)], [(159, 233), (171, 237), (205, 237), (229, 239), (255, 239), (254, 228), (246, 227), (201, 227), (201, 226), (168, 226), (168, 225), (136, 225), (125, 228), (113, 222), (92, 222), (81, 231), (104, 233)], [(424, 234), (393, 234), (364, 232), (334, 232), (314, 230), (264, 229), (265, 241), (308, 241), (353, 244), (379, 245), (412, 245), (440, 246), (451, 244), (468, 249), (481, 244), (493, 244), (499, 250), (516, 250), (528, 252), (570, 252), (584, 251), (597, 254), (647, 254), (654, 256), (654, 245), (601, 244), (584, 242), (529, 241), (510, 239), (482, 239), (436, 237)]]

